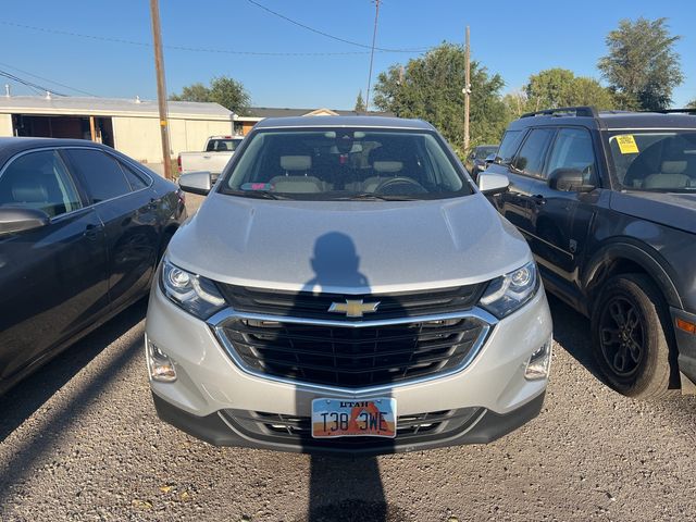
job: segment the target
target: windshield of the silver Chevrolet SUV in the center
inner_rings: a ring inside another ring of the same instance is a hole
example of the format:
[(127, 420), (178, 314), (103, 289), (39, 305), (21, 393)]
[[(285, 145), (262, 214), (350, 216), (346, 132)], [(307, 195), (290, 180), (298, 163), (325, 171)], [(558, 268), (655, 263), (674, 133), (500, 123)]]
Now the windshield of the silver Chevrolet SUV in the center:
[(471, 188), (434, 133), (269, 129), (250, 141), (221, 191), (273, 199), (437, 199)]

